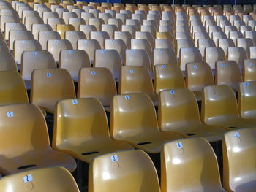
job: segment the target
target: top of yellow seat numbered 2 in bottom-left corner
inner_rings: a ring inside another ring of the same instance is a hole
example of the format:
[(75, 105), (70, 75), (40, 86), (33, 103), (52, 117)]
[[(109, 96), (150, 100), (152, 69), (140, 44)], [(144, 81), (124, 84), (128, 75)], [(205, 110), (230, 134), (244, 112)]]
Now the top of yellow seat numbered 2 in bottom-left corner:
[[(24, 182), (24, 180), (26, 182)], [(34, 169), (18, 174), (4, 177), (1, 183), (1, 191), (20, 191), (24, 192), (28, 185), (33, 185), (31, 191), (42, 192), (46, 188), (52, 188), (56, 192), (73, 191), (79, 192), (78, 185), (74, 177), (67, 169), (61, 166)], [(47, 187), (45, 183), (48, 183)], [(10, 189), (11, 188), (11, 189)]]

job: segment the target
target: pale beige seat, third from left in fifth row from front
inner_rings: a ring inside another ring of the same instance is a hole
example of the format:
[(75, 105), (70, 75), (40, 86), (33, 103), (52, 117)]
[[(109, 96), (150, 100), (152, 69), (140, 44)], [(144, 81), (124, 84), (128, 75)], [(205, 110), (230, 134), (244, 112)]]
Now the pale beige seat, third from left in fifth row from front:
[(53, 55), (56, 64), (59, 64), (59, 53), (61, 50), (72, 50), (72, 44), (67, 39), (49, 39), (47, 42), (47, 50)]

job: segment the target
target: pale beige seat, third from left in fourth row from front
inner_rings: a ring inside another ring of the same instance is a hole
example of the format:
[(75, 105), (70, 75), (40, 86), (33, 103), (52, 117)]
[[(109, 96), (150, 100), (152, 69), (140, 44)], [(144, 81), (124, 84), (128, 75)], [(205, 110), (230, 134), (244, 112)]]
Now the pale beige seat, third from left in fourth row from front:
[(75, 82), (78, 82), (78, 73), (82, 67), (91, 67), (89, 56), (84, 50), (61, 50), (59, 68), (67, 69)]

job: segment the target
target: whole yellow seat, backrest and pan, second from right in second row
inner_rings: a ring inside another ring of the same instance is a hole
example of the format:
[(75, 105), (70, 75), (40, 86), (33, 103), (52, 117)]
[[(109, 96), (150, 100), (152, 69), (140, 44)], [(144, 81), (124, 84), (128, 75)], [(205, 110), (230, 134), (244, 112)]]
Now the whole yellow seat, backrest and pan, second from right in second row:
[(239, 116), (236, 95), (228, 85), (203, 88), (201, 121), (226, 128), (255, 127), (255, 123)]

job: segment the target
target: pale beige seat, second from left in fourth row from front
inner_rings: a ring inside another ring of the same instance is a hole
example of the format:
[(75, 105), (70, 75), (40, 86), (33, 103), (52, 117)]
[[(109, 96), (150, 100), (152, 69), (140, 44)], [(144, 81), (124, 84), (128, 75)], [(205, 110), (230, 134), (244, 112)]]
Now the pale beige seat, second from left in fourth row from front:
[(20, 74), (27, 89), (31, 88), (31, 74), (34, 69), (56, 69), (53, 55), (46, 50), (26, 50), (23, 52)]

